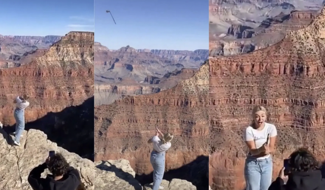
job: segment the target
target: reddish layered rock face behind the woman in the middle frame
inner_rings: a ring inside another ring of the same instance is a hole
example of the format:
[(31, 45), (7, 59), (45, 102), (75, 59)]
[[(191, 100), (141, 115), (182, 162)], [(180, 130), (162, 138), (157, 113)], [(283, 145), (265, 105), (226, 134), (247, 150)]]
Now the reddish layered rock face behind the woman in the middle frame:
[(147, 140), (155, 134), (155, 126), (175, 135), (166, 154), (166, 170), (207, 155), (208, 69), (208, 63), (203, 64), (192, 78), (166, 91), (95, 107), (95, 161), (123, 158), (137, 174), (149, 174), (152, 144)]

